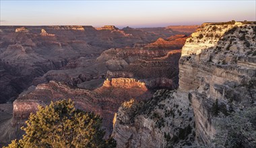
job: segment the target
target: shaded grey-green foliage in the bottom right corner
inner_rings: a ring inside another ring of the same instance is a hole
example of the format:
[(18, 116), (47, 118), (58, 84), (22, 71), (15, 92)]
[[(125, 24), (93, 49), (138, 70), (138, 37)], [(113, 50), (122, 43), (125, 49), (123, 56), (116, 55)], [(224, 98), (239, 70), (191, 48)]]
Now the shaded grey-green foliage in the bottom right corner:
[(255, 107), (213, 118), (216, 127), (214, 144), (216, 147), (256, 147), (255, 119)]

